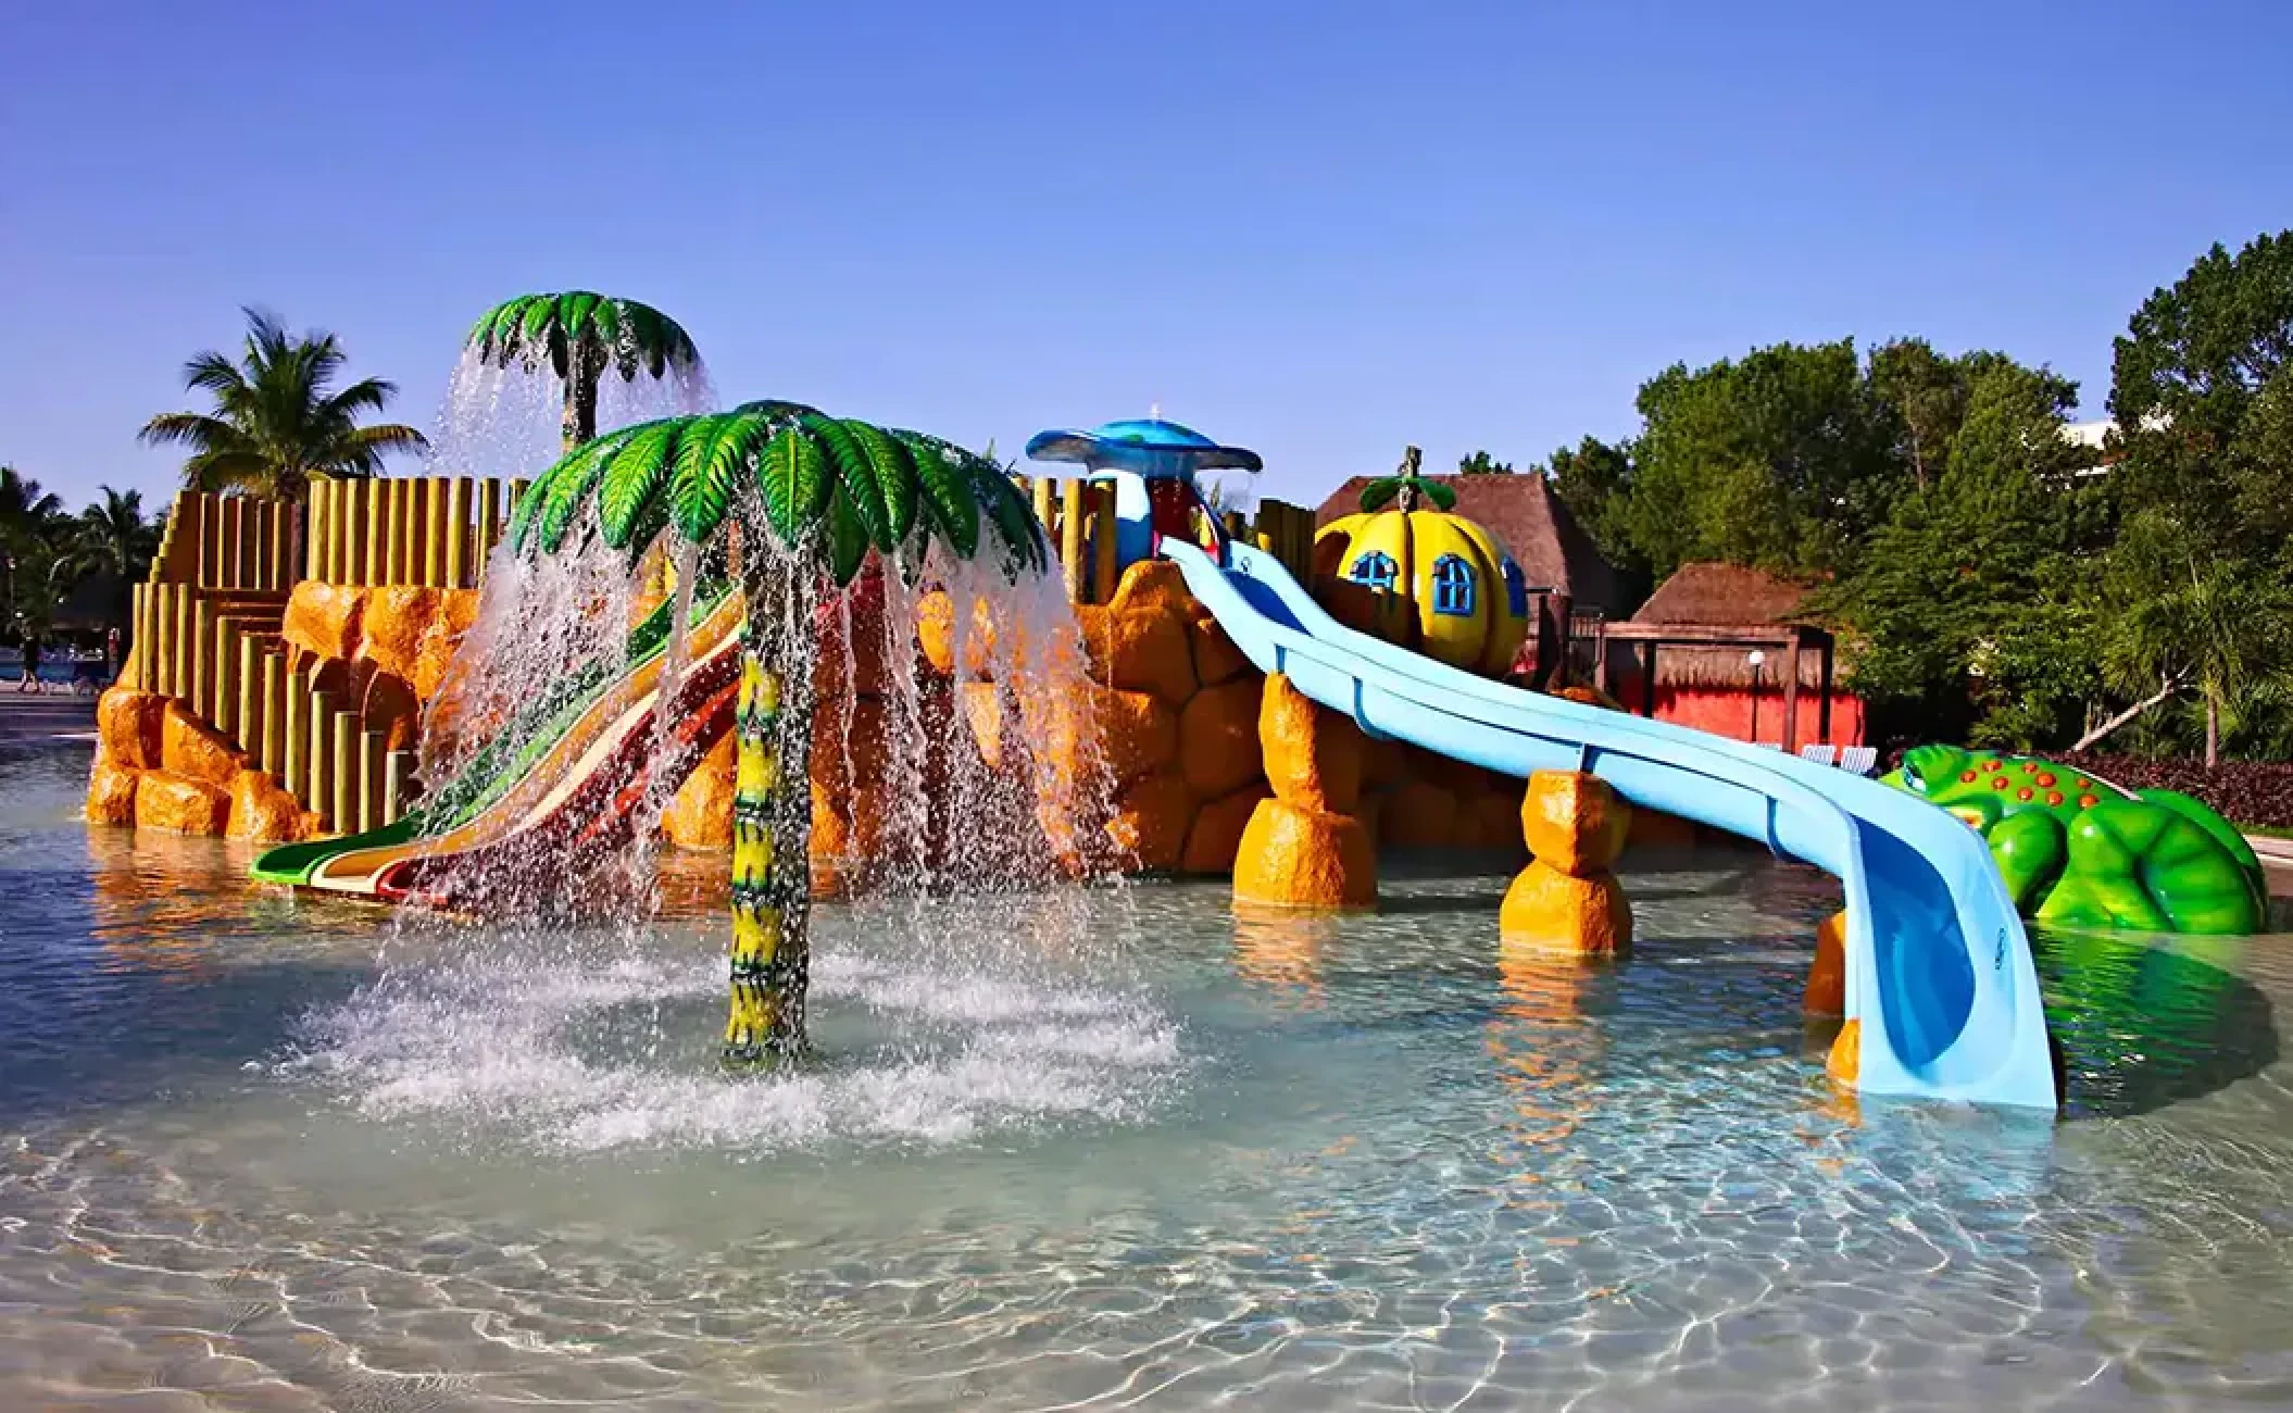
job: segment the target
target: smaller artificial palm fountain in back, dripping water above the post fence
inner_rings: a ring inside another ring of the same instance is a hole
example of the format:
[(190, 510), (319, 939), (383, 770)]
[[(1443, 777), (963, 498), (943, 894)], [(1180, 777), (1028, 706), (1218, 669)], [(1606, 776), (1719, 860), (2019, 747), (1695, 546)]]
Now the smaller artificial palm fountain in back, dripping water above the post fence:
[(658, 378), (699, 362), (692, 339), (660, 310), (587, 289), (521, 294), (493, 305), (463, 349), (491, 367), (539, 369), (548, 360), (564, 381), (566, 452), (596, 438), (596, 385), (608, 367), (635, 381), (640, 369)]

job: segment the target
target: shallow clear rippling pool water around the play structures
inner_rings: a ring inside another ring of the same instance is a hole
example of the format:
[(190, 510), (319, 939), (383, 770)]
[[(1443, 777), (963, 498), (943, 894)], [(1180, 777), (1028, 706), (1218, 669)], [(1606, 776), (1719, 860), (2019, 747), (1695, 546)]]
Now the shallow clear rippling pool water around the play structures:
[(1601, 970), (1502, 876), (830, 906), (727, 1080), (713, 860), (397, 927), (0, 752), (0, 1406), (2293, 1402), (2293, 938), (2045, 943), (2064, 1124), (1832, 1096), (1750, 853)]

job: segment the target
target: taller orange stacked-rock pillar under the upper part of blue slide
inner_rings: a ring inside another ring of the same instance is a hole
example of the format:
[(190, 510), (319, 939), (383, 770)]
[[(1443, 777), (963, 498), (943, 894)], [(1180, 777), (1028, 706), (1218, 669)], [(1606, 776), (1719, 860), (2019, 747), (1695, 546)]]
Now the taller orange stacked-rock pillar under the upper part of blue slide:
[(1378, 858), (1353, 814), (1362, 798), (1362, 729), (1275, 672), (1259, 702), (1259, 745), (1275, 796), (1259, 801), (1243, 826), (1234, 901), (1374, 908)]

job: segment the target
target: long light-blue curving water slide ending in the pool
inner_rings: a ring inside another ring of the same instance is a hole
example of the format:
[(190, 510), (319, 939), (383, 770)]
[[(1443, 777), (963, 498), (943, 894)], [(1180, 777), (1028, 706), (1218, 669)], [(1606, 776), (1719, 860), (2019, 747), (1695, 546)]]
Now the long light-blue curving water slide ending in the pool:
[(1378, 739), (1527, 778), (1591, 771), (1681, 814), (1837, 874), (1860, 1087), (2055, 1108), (2029, 940), (1965, 823), (1876, 780), (1708, 732), (1527, 693), (1337, 624), (1263, 551), (1156, 551), (1261, 670)]

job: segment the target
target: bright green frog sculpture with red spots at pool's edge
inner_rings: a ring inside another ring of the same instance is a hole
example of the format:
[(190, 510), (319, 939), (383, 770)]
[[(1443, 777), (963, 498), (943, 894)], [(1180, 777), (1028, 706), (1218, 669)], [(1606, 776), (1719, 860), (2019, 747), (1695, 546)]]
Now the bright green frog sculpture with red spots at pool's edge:
[(1917, 745), (1885, 782), (1974, 826), (2036, 922), (2245, 934), (2268, 918), (2261, 860), (2185, 794), (1958, 745)]

